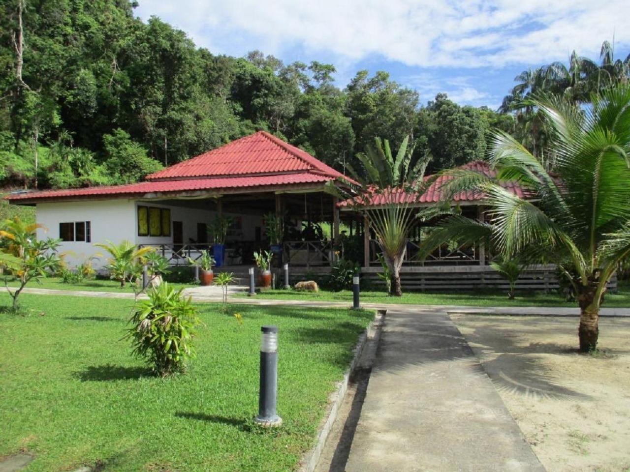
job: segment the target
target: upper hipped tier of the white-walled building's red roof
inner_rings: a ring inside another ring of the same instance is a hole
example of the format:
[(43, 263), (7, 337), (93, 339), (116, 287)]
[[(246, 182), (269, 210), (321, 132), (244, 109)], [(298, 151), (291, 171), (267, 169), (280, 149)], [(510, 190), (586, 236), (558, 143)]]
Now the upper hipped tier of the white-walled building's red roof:
[(270, 133), (259, 131), (147, 176), (147, 180), (311, 173), (343, 175)]

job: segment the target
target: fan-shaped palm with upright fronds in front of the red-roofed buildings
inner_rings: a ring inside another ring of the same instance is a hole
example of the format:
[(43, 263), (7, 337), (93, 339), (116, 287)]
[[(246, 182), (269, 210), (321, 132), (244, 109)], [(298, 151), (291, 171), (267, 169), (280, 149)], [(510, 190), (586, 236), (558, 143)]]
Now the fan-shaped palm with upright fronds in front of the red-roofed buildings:
[[(364, 214), (374, 230), (383, 261), (391, 274), (389, 294), (394, 296), (403, 295), (400, 269), (407, 239), (415, 223), (411, 206), (422, 194), (423, 176), (431, 160), (425, 153), (411, 166), (413, 147), (408, 143), (409, 137), (405, 137), (394, 158), (389, 141), (375, 138), (374, 146), (367, 146), (365, 153), (357, 154), (365, 172), (359, 174), (348, 167), (352, 176), (363, 185), (355, 189), (358, 196), (352, 196), (348, 203)], [(367, 175), (365, 179), (363, 174)], [(372, 205), (375, 199), (380, 200), (379, 205)]]

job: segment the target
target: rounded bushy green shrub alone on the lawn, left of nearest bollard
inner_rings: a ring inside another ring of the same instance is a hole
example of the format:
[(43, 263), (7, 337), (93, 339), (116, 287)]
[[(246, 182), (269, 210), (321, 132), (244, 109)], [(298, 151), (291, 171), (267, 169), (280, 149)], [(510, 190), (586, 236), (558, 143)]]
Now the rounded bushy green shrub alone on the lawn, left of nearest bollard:
[(195, 357), (193, 339), (201, 323), (191, 298), (168, 283), (149, 291), (129, 320), (127, 338), (135, 356), (142, 357), (161, 376), (181, 372)]

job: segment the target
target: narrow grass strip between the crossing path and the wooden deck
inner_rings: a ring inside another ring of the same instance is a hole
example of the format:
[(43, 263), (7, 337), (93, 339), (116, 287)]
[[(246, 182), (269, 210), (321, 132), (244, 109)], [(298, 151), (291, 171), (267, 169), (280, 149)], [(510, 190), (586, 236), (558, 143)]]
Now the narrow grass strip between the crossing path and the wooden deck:
[[(241, 296), (241, 295), (236, 295)], [(246, 295), (242, 295), (246, 296)], [(257, 298), (273, 298), (277, 300), (307, 301), (347, 301), (352, 303), (352, 292), (319, 291), (318, 293), (295, 290), (269, 290), (259, 292)], [(406, 292), (401, 297), (387, 296), (385, 292), (364, 291), (361, 301), (365, 303), (404, 303), (415, 305), (463, 305), (463, 306), (577, 306), (575, 301), (564, 301), (558, 293), (517, 292), (515, 300), (508, 300), (505, 293), (497, 291), (475, 291), (460, 293), (422, 293)], [(617, 293), (605, 296), (604, 307), (630, 307), (630, 284), (619, 283)]]

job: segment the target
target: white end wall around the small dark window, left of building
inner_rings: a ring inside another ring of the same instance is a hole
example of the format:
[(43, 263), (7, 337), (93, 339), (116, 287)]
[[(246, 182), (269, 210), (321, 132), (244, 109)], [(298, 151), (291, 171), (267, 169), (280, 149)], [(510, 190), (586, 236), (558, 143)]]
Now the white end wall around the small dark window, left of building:
[(107, 263), (107, 252), (94, 247), (93, 244), (107, 240), (115, 243), (124, 239), (134, 241), (137, 234), (135, 220), (133, 200), (38, 203), (37, 223), (44, 228), (37, 230), (37, 237), (59, 238), (59, 223), (88, 221), (91, 225), (91, 242), (65, 241), (61, 243), (59, 251), (65, 254), (66, 262), (70, 266), (80, 264), (88, 257), (100, 253), (101, 257), (93, 261), (94, 267), (100, 267)]

